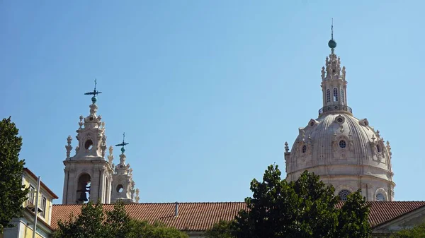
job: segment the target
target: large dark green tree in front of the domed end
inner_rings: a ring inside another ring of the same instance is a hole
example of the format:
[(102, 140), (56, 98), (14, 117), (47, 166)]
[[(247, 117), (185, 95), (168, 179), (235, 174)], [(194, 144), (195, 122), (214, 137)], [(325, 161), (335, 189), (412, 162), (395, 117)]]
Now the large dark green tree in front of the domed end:
[(370, 237), (368, 206), (360, 191), (348, 196), (341, 209), (338, 196), (319, 177), (304, 172), (295, 182), (280, 178), (278, 166), (270, 165), (263, 182), (251, 182), (253, 196), (235, 220), (208, 230), (210, 238), (333, 238)]

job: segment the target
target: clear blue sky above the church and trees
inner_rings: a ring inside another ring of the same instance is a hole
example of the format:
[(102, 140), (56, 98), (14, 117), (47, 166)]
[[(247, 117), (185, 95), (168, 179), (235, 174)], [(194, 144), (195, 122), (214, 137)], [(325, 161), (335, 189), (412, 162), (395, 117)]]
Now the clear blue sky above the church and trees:
[[(322, 107), (334, 18), (348, 105), (392, 145), (396, 200), (425, 200), (421, 1), (0, 1), (0, 117), (60, 196), (67, 136), (126, 133), (141, 202), (243, 201)], [(74, 139), (74, 148), (77, 140)], [(115, 158), (118, 159), (118, 148)]]

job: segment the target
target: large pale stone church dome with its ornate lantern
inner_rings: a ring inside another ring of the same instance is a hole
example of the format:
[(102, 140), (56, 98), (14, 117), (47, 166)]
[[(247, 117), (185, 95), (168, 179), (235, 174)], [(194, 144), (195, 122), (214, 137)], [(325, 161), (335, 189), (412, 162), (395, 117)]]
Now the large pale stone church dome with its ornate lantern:
[(289, 150), (285, 143), (286, 179), (308, 170), (346, 196), (358, 189), (367, 201), (393, 201), (391, 147), (368, 119), (353, 117), (347, 105), (346, 72), (334, 49), (322, 68), (323, 107), (310, 119)]

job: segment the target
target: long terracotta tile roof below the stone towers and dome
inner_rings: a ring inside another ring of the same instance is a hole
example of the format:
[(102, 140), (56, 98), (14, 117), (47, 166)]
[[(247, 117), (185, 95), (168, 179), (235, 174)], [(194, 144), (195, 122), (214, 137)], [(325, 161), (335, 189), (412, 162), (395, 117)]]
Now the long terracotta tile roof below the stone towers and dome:
[[(369, 222), (372, 227), (383, 224), (400, 215), (425, 206), (425, 201), (368, 202), (370, 203)], [(337, 206), (341, 207), (342, 203)], [(106, 210), (113, 205), (105, 205)], [(165, 225), (184, 231), (203, 231), (220, 220), (232, 220), (237, 212), (246, 209), (244, 202), (229, 203), (179, 203), (179, 216), (174, 217), (174, 203), (135, 203), (126, 204), (125, 210), (131, 218), (160, 221)], [(68, 220), (69, 214), (80, 213), (81, 205), (54, 205), (52, 209), (52, 227), (57, 221)]]

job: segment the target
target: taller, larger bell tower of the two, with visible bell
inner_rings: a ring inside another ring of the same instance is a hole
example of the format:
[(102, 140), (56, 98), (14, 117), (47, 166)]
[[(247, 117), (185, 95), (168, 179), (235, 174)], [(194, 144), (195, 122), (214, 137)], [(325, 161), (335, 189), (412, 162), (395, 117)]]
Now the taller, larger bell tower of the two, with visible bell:
[(105, 160), (106, 135), (105, 122), (97, 115), (97, 97), (100, 94), (96, 90), (85, 93), (91, 97), (90, 114), (87, 117), (80, 116), (79, 129), (77, 129), (78, 145), (75, 155), (71, 155), (72, 136), (68, 136), (67, 157), (64, 160), (64, 192), (62, 203), (75, 204), (93, 201), (97, 203), (111, 202), (112, 165)]

